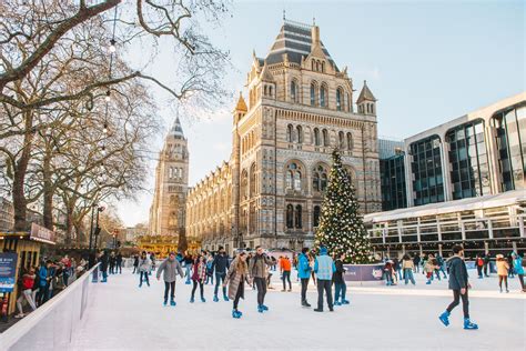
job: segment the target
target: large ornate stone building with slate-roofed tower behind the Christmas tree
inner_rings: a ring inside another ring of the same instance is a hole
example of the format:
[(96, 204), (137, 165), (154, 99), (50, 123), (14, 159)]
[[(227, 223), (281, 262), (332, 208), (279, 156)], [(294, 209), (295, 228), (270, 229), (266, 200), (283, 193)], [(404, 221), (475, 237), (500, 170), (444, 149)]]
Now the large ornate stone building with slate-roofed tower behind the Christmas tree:
[(232, 154), (190, 192), (186, 232), (205, 249), (312, 245), (337, 148), (363, 212), (381, 210), (376, 99), (353, 81), (316, 26), (285, 21), (265, 59), (253, 54), (249, 106), (233, 111)]

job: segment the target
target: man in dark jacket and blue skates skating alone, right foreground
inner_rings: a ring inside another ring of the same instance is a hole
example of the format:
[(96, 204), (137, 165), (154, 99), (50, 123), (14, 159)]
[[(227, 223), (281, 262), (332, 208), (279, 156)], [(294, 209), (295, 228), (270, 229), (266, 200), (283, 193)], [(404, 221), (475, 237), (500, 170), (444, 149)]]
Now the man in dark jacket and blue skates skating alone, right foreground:
[(464, 329), (478, 329), (478, 325), (469, 320), (469, 300), (467, 291), (472, 288), (467, 281), (467, 269), (464, 262), (464, 248), (461, 245), (453, 247), (453, 258), (448, 260), (449, 265), (449, 289), (453, 290), (453, 302), (447, 307), (438, 319), (444, 325), (449, 325), (449, 314), (462, 299), (462, 308), (464, 310)]

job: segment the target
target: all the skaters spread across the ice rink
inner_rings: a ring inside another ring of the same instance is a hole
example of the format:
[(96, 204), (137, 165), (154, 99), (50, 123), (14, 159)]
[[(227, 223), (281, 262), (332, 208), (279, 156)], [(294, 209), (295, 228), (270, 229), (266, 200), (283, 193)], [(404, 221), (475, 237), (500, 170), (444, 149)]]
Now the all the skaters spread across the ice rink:
[[(509, 262), (502, 254), (496, 255), (496, 271), (499, 277), (499, 287), (508, 292), (507, 278), (509, 274), (517, 274), (522, 289), (524, 290), (524, 265), (525, 260), (513, 253)], [(110, 272), (121, 272), (122, 257), (114, 255), (114, 265), (111, 263), (113, 254), (102, 253), (101, 270), (104, 275), (104, 261), (110, 265)], [(387, 285), (395, 285), (399, 281), (405, 284), (409, 282), (416, 284), (415, 274), (423, 273), (426, 277), (426, 284), (436, 280), (448, 280), (448, 287), (453, 291), (453, 302), (446, 311), (439, 315), (444, 325), (449, 324), (449, 314), (453, 309), (462, 301), (464, 311), (464, 328), (477, 329), (478, 325), (469, 319), (468, 311), (468, 282), (467, 268), (464, 261), (464, 249), (461, 245), (453, 248), (452, 255), (447, 259), (441, 254), (416, 254), (412, 257), (406, 253), (402, 259), (385, 259), (383, 265), (384, 279)], [(240, 311), (240, 301), (245, 297), (245, 289), (250, 287), (257, 291), (257, 312), (269, 311), (265, 304), (267, 289), (272, 289), (271, 277), (273, 271), (280, 270), (283, 283), (282, 292), (292, 291), (291, 277), (295, 269), (296, 280), (301, 285), (301, 305), (311, 308), (306, 299), (306, 291), (312, 280), (317, 289), (317, 305), (315, 312), (323, 312), (324, 307), (328, 311), (334, 311), (334, 307), (348, 304), (346, 299), (345, 283), (345, 254), (331, 257), (325, 247), (321, 247), (317, 252), (304, 248), (301, 253), (282, 254), (277, 259), (265, 252), (262, 247), (256, 247), (254, 252), (239, 251), (232, 259), (227, 255), (224, 248), (219, 248), (216, 253), (201, 251), (200, 253), (185, 254), (171, 252), (156, 269), (155, 278), (164, 282), (163, 304), (174, 307), (175, 303), (175, 281), (178, 275), (186, 284), (192, 284), (190, 303), (195, 302), (195, 293), (199, 288), (199, 298), (201, 302), (206, 302), (204, 290), (205, 285), (213, 287), (213, 301), (232, 301), (232, 317), (240, 319), (243, 313)], [(492, 260), (487, 255), (475, 260), (478, 271), (484, 272), (485, 277), (492, 274)], [(481, 265), (481, 269), (478, 267)], [(139, 274), (139, 288), (145, 283), (150, 287), (150, 278), (155, 271), (155, 255), (151, 252), (141, 252), (133, 257), (133, 273)], [(513, 275), (510, 275), (513, 277)], [(481, 278), (481, 277), (478, 277)], [(482, 279), (482, 278), (481, 278)], [(334, 287), (334, 291), (333, 291)], [(221, 289), (221, 291), (220, 291)], [(326, 301), (326, 303), (325, 303)], [(324, 305), (325, 304), (325, 305)]]

